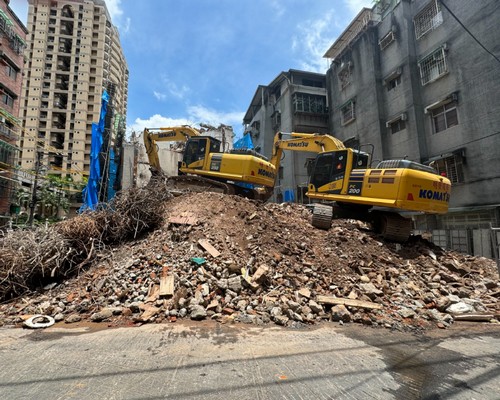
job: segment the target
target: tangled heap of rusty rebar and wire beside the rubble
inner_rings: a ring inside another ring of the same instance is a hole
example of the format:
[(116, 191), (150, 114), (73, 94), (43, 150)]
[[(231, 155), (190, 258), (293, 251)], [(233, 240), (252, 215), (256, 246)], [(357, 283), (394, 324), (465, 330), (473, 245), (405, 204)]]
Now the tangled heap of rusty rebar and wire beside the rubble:
[(47, 280), (71, 277), (92, 265), (100, 251), (163, 222), (163, 206), (172, 197), (162, 177), (151, 187), (134, 188), (105, 207), (47, 227), (0, 232), (0, 300), (23, 295)]

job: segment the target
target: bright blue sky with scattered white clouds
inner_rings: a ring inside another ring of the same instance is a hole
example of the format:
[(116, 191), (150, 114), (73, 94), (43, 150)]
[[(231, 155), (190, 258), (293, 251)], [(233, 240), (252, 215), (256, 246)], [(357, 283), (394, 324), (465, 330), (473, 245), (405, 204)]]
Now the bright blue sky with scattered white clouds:
[[(233, 126), (281, 71), (323, 54), (373, 0), (106, 0), (129, 67), (127, 126)], [(27, 0), (10, 7), (26, 23)]]

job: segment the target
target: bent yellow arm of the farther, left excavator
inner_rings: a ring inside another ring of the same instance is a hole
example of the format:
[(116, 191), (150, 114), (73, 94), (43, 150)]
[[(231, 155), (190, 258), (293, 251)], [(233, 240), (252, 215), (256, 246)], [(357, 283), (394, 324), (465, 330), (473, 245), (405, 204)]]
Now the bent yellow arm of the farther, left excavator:
[(161, 171), (156, 142), (186, 142), (193, 136), (200, 136), (200, 132), (187, 125), (166, 128), (145, 128), (143, 140), (152, 172)]

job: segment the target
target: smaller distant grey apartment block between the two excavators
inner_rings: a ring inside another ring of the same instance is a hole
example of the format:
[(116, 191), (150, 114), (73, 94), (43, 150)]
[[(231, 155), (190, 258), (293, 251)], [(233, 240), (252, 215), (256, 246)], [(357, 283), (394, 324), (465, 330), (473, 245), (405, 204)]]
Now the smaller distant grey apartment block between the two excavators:
[[(243, 118), (255, 150), (272, 156), (277, 132), (327, 133), (328, 104), (324, 74), (291, 69), (260, 85)], [(285, 152), (271, 201), (307, 202), (307, 165), (312, 153)]]

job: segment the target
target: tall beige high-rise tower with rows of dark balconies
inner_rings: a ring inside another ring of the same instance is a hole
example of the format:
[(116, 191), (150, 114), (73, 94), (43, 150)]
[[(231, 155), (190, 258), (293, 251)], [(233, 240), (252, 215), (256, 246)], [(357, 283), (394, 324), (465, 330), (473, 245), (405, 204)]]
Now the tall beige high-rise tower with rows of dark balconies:
[[(89, 173), (92, 123), (109, 95), (103, 156), (120, 156), (128, 67), (103, 0), (28, 0), (26, 70), (21, 96), (19, 167), (81, 181)], [(108, 163), (108, 164), (106, 164)], [(107, 182), (106, 182), (107, 183)], [(114, 182), (113, 185), (116, 185)], [(79, 207), (78, 200), (73, 209)]]

